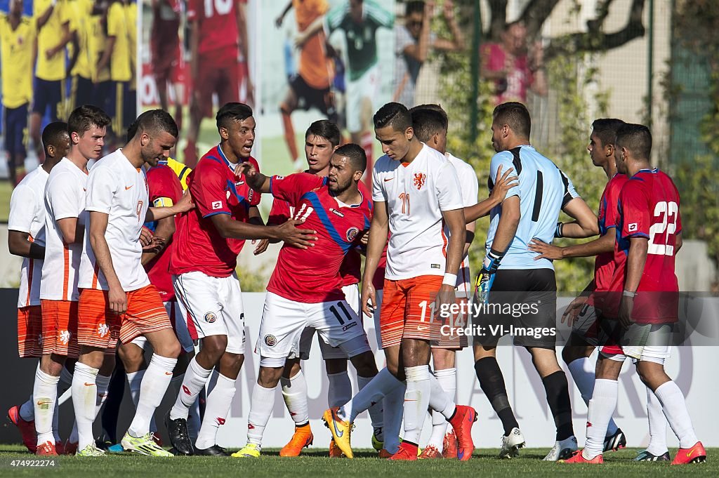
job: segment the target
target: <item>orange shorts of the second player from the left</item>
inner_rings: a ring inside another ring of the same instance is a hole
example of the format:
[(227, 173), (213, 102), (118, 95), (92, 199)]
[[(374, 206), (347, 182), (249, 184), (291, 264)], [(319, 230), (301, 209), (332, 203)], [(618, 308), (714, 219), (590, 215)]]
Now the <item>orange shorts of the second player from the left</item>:
[(76, 359), (78, 346), (78, 303), (74, 300), (40, 300), (42, 307), (42, 354)]

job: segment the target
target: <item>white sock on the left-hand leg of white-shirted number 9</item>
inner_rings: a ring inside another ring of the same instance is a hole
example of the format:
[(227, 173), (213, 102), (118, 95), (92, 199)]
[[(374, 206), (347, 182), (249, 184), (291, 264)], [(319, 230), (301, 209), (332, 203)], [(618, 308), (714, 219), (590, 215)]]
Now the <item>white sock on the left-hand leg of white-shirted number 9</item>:
[[(95, 421), (97, 401), (96, 380), (99, 371), (99, 369), (95, 369), (81, 362), (75, 364), (72, 388), (75, 423), (78, 428), (78, 451), (95, 443), (92, 424), (93, 421)], [(37, 419), (35, 423), (37, 423)]]

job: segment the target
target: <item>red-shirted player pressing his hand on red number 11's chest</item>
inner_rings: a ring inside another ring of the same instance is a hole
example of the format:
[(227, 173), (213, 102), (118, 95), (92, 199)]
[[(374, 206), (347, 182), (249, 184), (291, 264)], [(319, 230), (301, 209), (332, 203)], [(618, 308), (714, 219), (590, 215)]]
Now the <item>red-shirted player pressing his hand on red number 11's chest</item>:
[[(235, 268), (245, 239), (279, 239), (308, 247), (314, 238), (312, 230), (296, 229), (294, 220), (264, 226), (257, 211), (260, 193), (250, 189), (242, 175), (235, 176), (239, 163), (257, 166), (250, 155), (255, 142), (252, 109), (229, 103), (219, 109), (216, 121), (221, 141), (188, 176), (197, 207), (180, 216), (170, 256), (175, 293), (192, 318), (188, 326), (193, 339), (202, 341), (167, 417), (170, 441), (180, 454), (226, 455), (216, 444), (216, 433), (229, 413), (244, 362), (242, 290)], [(207, 397), (193, 449), (186, 420), (213, 369), (216, 386)]]

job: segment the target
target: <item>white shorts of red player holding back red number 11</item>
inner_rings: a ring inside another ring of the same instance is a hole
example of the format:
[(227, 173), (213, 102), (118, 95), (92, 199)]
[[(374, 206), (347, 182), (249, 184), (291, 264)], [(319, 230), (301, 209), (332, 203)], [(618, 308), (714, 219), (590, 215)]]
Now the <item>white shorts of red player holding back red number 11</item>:
[[(210, 277), (193, 271), (173, 275), (175, 295), (192, 318), (193, 338), (226, 335), (231, 354), (244, 353), (244, 308), (237, 274)], [(194, 326), (194, 327), (193, 327)]]

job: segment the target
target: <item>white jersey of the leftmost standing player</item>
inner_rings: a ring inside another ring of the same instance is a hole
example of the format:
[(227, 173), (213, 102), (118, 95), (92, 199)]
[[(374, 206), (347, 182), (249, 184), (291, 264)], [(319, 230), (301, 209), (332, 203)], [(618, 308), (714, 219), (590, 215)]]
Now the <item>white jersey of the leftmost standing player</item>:
[[(38, 166), (15, 186), (10, 198), (9, 231), (27, 234), (29, 242), (45, 246), (45, 184), (47, 171)], [(17, 308), (40, 305), (42, 259), (22, 258)]]

